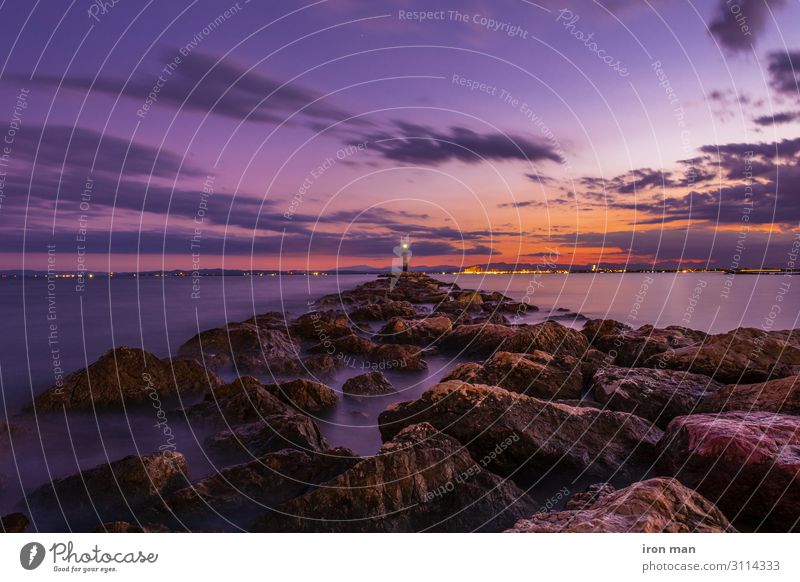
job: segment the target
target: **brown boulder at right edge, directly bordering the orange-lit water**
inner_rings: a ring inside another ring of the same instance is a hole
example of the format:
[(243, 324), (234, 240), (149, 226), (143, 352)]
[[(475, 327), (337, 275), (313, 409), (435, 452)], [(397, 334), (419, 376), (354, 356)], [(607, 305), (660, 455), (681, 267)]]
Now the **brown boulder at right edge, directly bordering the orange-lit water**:
[(663, 358), (651, 357), (644, 365), (688, 370), (725, 384), (764, 382), (800, 374), (800, 343), (795, 332), (741, 327), (710, 335)]

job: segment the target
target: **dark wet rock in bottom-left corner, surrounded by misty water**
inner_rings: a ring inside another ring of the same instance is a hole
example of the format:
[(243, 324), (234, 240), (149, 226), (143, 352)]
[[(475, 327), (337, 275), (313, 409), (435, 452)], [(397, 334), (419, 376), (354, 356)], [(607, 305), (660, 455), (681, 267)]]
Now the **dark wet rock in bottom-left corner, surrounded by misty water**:
[(137, 512), (163, 495), (189, 484), (184, 456), (170, 450), (125, 457), (79, 474), (55, 479), (27, 496), (34, 508), (72, 529), (106, 521), (137, 521)]

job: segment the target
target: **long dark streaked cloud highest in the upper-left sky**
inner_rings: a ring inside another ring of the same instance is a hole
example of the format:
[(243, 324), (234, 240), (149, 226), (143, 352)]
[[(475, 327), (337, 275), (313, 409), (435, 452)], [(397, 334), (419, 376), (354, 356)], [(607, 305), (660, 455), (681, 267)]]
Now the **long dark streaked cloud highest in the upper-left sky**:
[[(163, 61), (171, 62), (176, 54), (177, 49), (162, 51)], [(61, 84), (63, 88), (91, 90), (114, 97), (122, 95), (137, 101), (138, 108), (153, 91), (159, 75), (163, 78), (163, 86), (153, 108), (169, 104), (175, 109), (182, 106), (184, 111), (211, 112), (236, 120), (262, 123), (279, 123), (300, 109), (303, 111), (298, 115), (307, 123), (340, 121), (350, 117), (350, 113), (326, 103), (326, 100), (316, 101), (322, 95), (318, 91), (297, 84), (284, 84), (257, 70), (248, 71), (247, 67), (230, 59), (220, 60), (200, 52), (184, 57), (171, 74), (159, 71), (147, 76), (139, 75), (127, 83), (122, 78), (113, 77), (93, 80), (75, 76), (62, 81), (60, 77), (51, 75), (37, 75), (32, 82), (52, 87)], [(26, 82), (30, 82), (27, 77)]]

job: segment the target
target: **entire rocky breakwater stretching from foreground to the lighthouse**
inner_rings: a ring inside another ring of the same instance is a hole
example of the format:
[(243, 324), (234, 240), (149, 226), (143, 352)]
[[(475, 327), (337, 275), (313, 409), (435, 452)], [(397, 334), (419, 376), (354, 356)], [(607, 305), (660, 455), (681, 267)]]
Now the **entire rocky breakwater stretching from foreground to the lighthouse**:
[[(313, 307), (204, 331), (172, 359), (117, 348), (37, 397), (37, 412), (173, 398), (195, 434), (210, 435), (204, 453), (218, 465), (195, 481), (180, 453), (85, 469), (28, 494), (37, 527), (797, 529), (794, 332), (509, 324), (504, 314), (520, 306), (508, 297), (418, 274), (379, 277)], [(315, 415), (373, 396), (396, 401), (396, 373), (421, 376), (432, 354), (452, 357), (451, 369), (380, 414), (377, 454), (324, 438)], [(369, 372), (333, 375), (354, 359)], [(563, 511), (533, 513), (531, 482), (576, 476), (618, 490), (597, 486)], [(3, 527), (26, 519), (6, 516)]]

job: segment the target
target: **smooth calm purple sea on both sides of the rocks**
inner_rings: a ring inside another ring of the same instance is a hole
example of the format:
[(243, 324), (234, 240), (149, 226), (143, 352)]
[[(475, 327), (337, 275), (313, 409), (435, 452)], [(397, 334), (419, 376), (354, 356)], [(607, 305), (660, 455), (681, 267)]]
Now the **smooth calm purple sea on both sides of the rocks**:
[[(465, 288), (502, 291), (539, 306), (541, 311), (532, 313), (529, 321), (558, 315), (565, 324), (576, 327), (582, 322), (574, 314), (555, 310), (617, 319), (633, 327), (675, 324), (712, 332), (738, 326), (794, 328), (800, 315), (800, 283), (794, 288), (791, 279), (775, 275), (740, 275), (732, 281), (726, 275), (709, 273), (439, 278)], [(370, 275), (212, 277), (201, 281), (199, 299), (192, 298), (191, 281), (180, 278), (97, 279), (80, 294), (69, 280), (59, 280), (50, 299), (44, 280), (0, 281), (0, 407), (4, 409), (0, 409), (0, 419), (6, 414), (17, 416), (33, 394), (53, 384), (51, 347), (59, 349), (67, 372), (91, 363), (112, 346), (141, 347), (165, 357), (200, 330), (267, 311), (299, 315), (307, 311), (309, 301), (371, 279)], [(781, 294), (781, 285), (787, 283), (788, 291), (784, 287)], [(51, 318), (55, 319), (48, 320), (48, 313), (54, 313)], [(53, 341), (56, 343), (51, 345)], [(428, 358), (427, 372), (389, 372), (399, 394), (366, 400), (342, 398), (336, 409), (317, 421), (332, 444), (361, 454), (373, 453), (380, 446), (375, 426), (378, 413), (392, 402), (416, 398), (455, 363), (435, 356)], [(345, 368), (329, 383), (339, 390), (347, 378), (362, 372), (358, 367)], [(133, 411), (126, 417), (79, 413), (70, 413), (68, 418), (17, 416), (15, 422), (28, 432), (14, 437), (13, 454), (0, 451), (0, 511), (10, 510), (19, 500), (21, 488), (30, 489), (52, 476), (72, 474), (106, 459), (148, 453), (163, 442), (163, 436), (152, 427), (152, 413), (147, 411)], [(177, 410), (170, 413), (170, 422), (178, 450), (189, 457), (193, 475), (211, 472), (212, 464), (201, 446), (207, 435), (191, 432)]]

